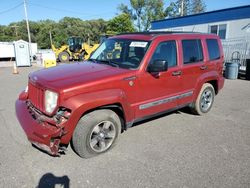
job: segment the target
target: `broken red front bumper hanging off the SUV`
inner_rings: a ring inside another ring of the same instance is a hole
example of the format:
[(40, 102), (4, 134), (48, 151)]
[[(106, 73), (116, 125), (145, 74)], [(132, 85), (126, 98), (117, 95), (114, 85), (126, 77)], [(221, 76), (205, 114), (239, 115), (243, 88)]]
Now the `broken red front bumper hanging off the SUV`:
[(32, 144), (53, 156), (64, 151), (60, 142), (67, 133), (64, 130), (65, 118), (56, 123), (56, 117), (50, 118), (39, 113), (29, 101), (20, 98), (16, 101), (16, 115)]

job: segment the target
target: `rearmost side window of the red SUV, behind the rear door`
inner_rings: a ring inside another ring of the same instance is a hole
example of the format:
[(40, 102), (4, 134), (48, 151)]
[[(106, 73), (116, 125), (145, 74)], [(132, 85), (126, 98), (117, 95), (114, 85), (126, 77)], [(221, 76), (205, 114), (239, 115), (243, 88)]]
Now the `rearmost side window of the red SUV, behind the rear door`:
[(209, 60), (220, 59), (220, 49), (216, 39), (206, 39)]

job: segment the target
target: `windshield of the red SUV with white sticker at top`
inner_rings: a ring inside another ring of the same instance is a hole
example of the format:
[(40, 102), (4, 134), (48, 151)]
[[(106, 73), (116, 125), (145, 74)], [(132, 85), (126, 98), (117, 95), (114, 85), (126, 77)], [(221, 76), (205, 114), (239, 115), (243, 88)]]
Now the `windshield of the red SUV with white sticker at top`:
[(148, 41), (107, 39), (90, 57), (95, 63), (105, 63), (125, 69), (137, 69), (149, 47)]

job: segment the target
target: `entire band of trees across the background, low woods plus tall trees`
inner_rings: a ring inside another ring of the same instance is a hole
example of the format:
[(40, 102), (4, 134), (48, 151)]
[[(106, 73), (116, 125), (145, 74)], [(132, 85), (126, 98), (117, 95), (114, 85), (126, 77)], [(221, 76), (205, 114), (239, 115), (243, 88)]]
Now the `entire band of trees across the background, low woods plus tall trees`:
[[(53, 20), (30, 21), (31, 41), (38, 47), (50, 48), (50, 33), (56, 47), (67, 43), (70, 36), (78, 36), (84, 41), (98, 43), (102, 34), (144, 31), (150, 29), (154, 20), (186, 16), (204, 12), (203, 0), (176, 0), (165, 7), (163, 0), (130, 0), (129, 5), (118, 5), (118, 15), (111, 20), (81, 20), (64, 17), (58, 22)], [(13, 22), (0, 25), (0, 41), (28, 41), (26, 22)]]

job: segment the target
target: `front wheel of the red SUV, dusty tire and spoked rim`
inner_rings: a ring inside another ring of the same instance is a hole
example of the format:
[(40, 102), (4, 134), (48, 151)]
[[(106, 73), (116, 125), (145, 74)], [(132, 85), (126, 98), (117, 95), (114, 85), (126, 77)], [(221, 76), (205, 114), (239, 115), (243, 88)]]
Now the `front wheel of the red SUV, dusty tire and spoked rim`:
[[(106, 129), (108, 123), (110, 127)], [(94, 157), (113, 148), (120, 133), (121, 121), (115, 112), (108, 109), (96, 110), (79, 120), (72, 137), (73, 148), (82, 158)], [(102, 148), (103, 143), (106, 148)]]

